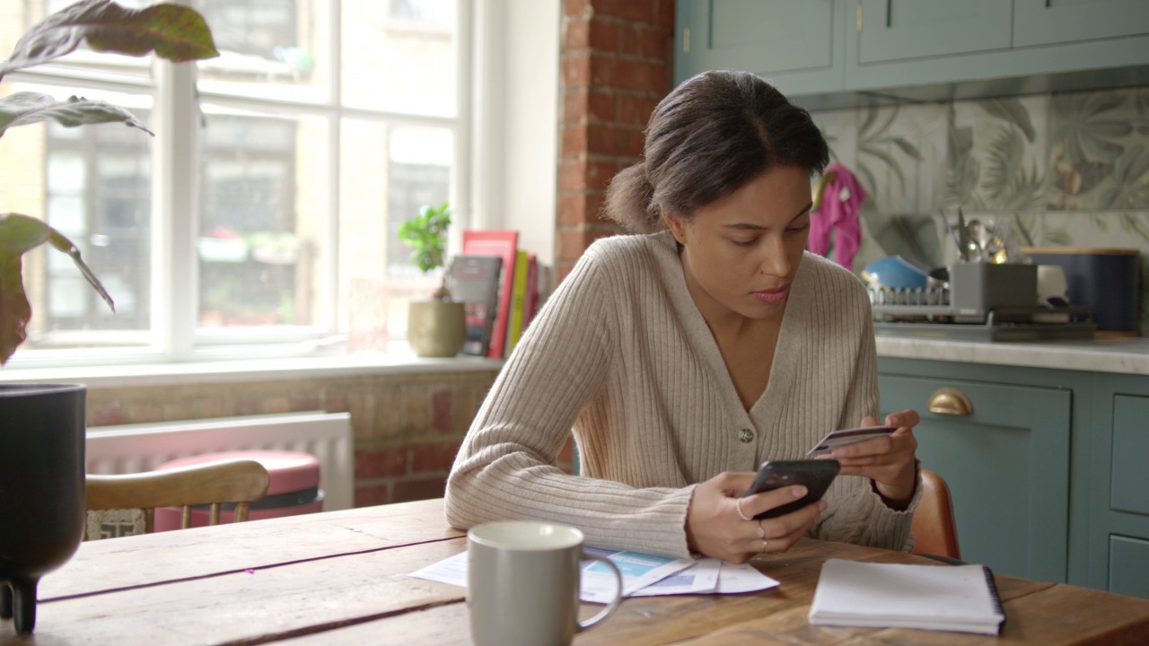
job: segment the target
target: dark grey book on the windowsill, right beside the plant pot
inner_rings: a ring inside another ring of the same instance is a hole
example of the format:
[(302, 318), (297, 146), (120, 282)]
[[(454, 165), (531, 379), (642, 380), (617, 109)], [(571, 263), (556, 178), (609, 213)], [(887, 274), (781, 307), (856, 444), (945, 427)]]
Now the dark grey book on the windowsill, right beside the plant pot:
[(491, 331), (499, 312), (499, 271), (502, 259), (494, 255), (456, 255), (450, 262), (447, 287), (455, 302), (463, 303), (466, 339), (463, 354), (486, 356)]

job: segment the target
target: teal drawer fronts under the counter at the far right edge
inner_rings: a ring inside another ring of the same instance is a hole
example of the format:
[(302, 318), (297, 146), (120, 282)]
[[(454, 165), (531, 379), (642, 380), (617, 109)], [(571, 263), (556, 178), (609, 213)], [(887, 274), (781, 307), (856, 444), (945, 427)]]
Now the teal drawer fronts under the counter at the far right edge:
[(1149, 599), (1149, 377), (1100, 377), (1094, 407), (1088, 585)]

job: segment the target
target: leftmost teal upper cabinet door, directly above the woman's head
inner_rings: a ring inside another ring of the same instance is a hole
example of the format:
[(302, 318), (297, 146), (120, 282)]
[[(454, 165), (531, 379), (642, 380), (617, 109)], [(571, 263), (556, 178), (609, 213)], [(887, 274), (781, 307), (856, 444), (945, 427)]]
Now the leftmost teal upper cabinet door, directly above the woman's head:
[(678, 0), (674, 78), (738, 69), (786, 94), (840, 92), (847, 8), (838, 0)]

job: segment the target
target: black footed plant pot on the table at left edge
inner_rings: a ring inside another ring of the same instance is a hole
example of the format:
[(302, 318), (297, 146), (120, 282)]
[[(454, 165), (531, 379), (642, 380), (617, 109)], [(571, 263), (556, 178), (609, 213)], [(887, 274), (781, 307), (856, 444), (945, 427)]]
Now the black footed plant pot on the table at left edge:
[(84, 538), (82, 385), (0, 384), (0, 617), (36, 626), (36, 586)]

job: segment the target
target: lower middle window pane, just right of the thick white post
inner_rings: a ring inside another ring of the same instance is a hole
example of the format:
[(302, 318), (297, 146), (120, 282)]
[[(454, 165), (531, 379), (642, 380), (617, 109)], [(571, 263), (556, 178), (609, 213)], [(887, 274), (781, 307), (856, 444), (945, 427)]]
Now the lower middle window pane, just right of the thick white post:
[(323, 324), (326, 121), (206, 109), (199, 325)]

